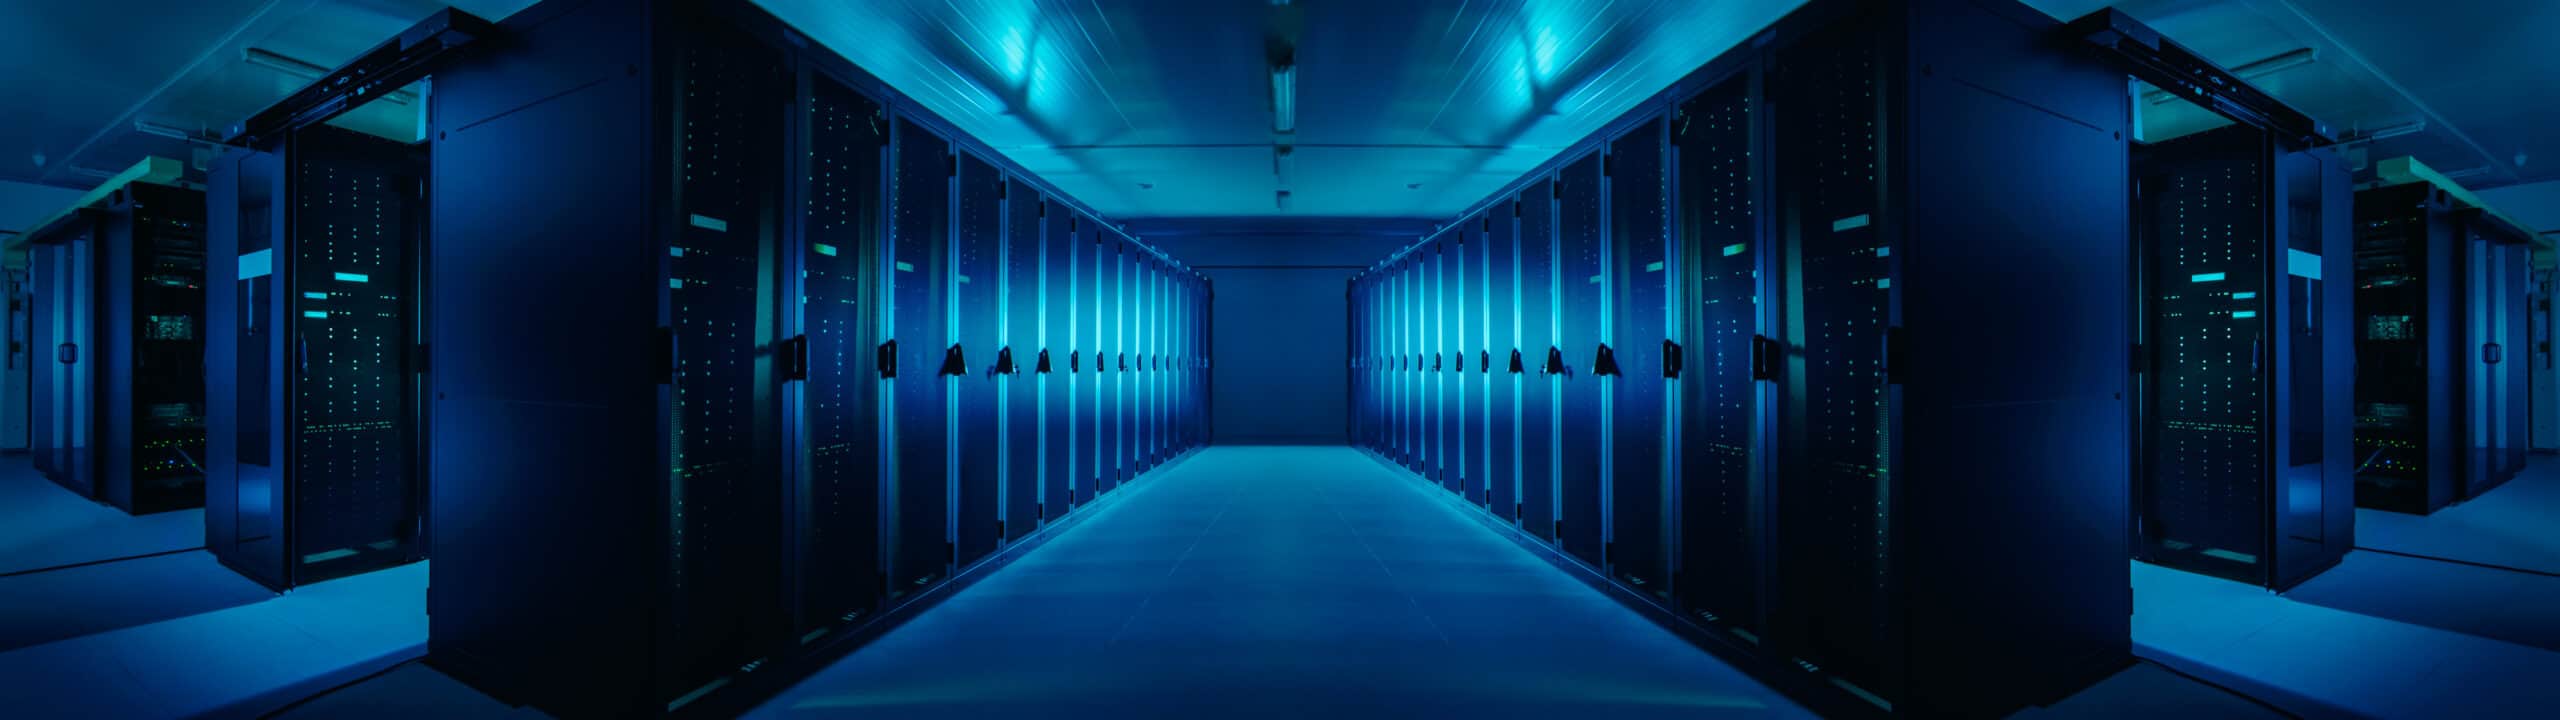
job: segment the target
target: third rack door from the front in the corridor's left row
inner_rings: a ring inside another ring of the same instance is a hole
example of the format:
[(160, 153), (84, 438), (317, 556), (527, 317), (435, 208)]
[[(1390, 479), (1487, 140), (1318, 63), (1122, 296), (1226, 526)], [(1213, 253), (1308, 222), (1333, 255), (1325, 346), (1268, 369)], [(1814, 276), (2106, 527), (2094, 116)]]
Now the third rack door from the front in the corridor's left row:
[(896, 484), (891, 487), (893, 525), (888, 536), (888, 597), (929, 587), (950, 564), (950, 423), (942, 354), (945, 287), (950, 282), (952, 156), (950, 141), (909, 118), (896, 120), (896, 159), (891, 164), (891, 328), (896, 366), (891, 402), (896, 420)]

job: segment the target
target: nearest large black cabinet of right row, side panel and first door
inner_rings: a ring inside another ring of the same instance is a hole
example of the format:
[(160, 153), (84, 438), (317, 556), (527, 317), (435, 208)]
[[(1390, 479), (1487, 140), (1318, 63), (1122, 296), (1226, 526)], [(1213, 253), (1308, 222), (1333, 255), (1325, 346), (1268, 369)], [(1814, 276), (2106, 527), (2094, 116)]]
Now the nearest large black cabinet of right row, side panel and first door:
[(2061, 697), (2130, 653), (2125, 77), (2015, 3), (1792, 18), (1766, 638), (1902, 715)]

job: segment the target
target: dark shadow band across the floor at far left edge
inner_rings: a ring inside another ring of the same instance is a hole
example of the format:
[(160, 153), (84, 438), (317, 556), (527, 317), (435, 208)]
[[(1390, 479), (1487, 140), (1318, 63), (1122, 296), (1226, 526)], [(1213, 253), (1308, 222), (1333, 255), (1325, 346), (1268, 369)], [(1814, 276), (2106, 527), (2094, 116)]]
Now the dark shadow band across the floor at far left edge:
[(0, 579), (0, 651), (97, 635), (274, 597), (187, 551)]

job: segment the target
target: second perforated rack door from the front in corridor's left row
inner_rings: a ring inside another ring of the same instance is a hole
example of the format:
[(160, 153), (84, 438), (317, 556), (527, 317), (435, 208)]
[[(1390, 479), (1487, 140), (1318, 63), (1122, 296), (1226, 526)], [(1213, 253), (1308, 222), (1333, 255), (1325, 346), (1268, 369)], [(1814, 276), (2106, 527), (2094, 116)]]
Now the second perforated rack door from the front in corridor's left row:
[(812, 77), (801, 331), (806, 500), (801, 628), (852, 623), (881, 605), (878, 277), (888, 118), (870, 97)]

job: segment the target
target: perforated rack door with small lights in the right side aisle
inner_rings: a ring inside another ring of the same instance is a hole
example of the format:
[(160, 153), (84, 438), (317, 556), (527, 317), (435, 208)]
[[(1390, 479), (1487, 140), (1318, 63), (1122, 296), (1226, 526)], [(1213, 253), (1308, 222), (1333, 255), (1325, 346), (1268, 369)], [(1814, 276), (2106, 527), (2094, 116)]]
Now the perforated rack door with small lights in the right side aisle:
[(2145, 559), (2263, 582), (2268, 523), (2268, 225), (2255, 131), (2150, 151)]

